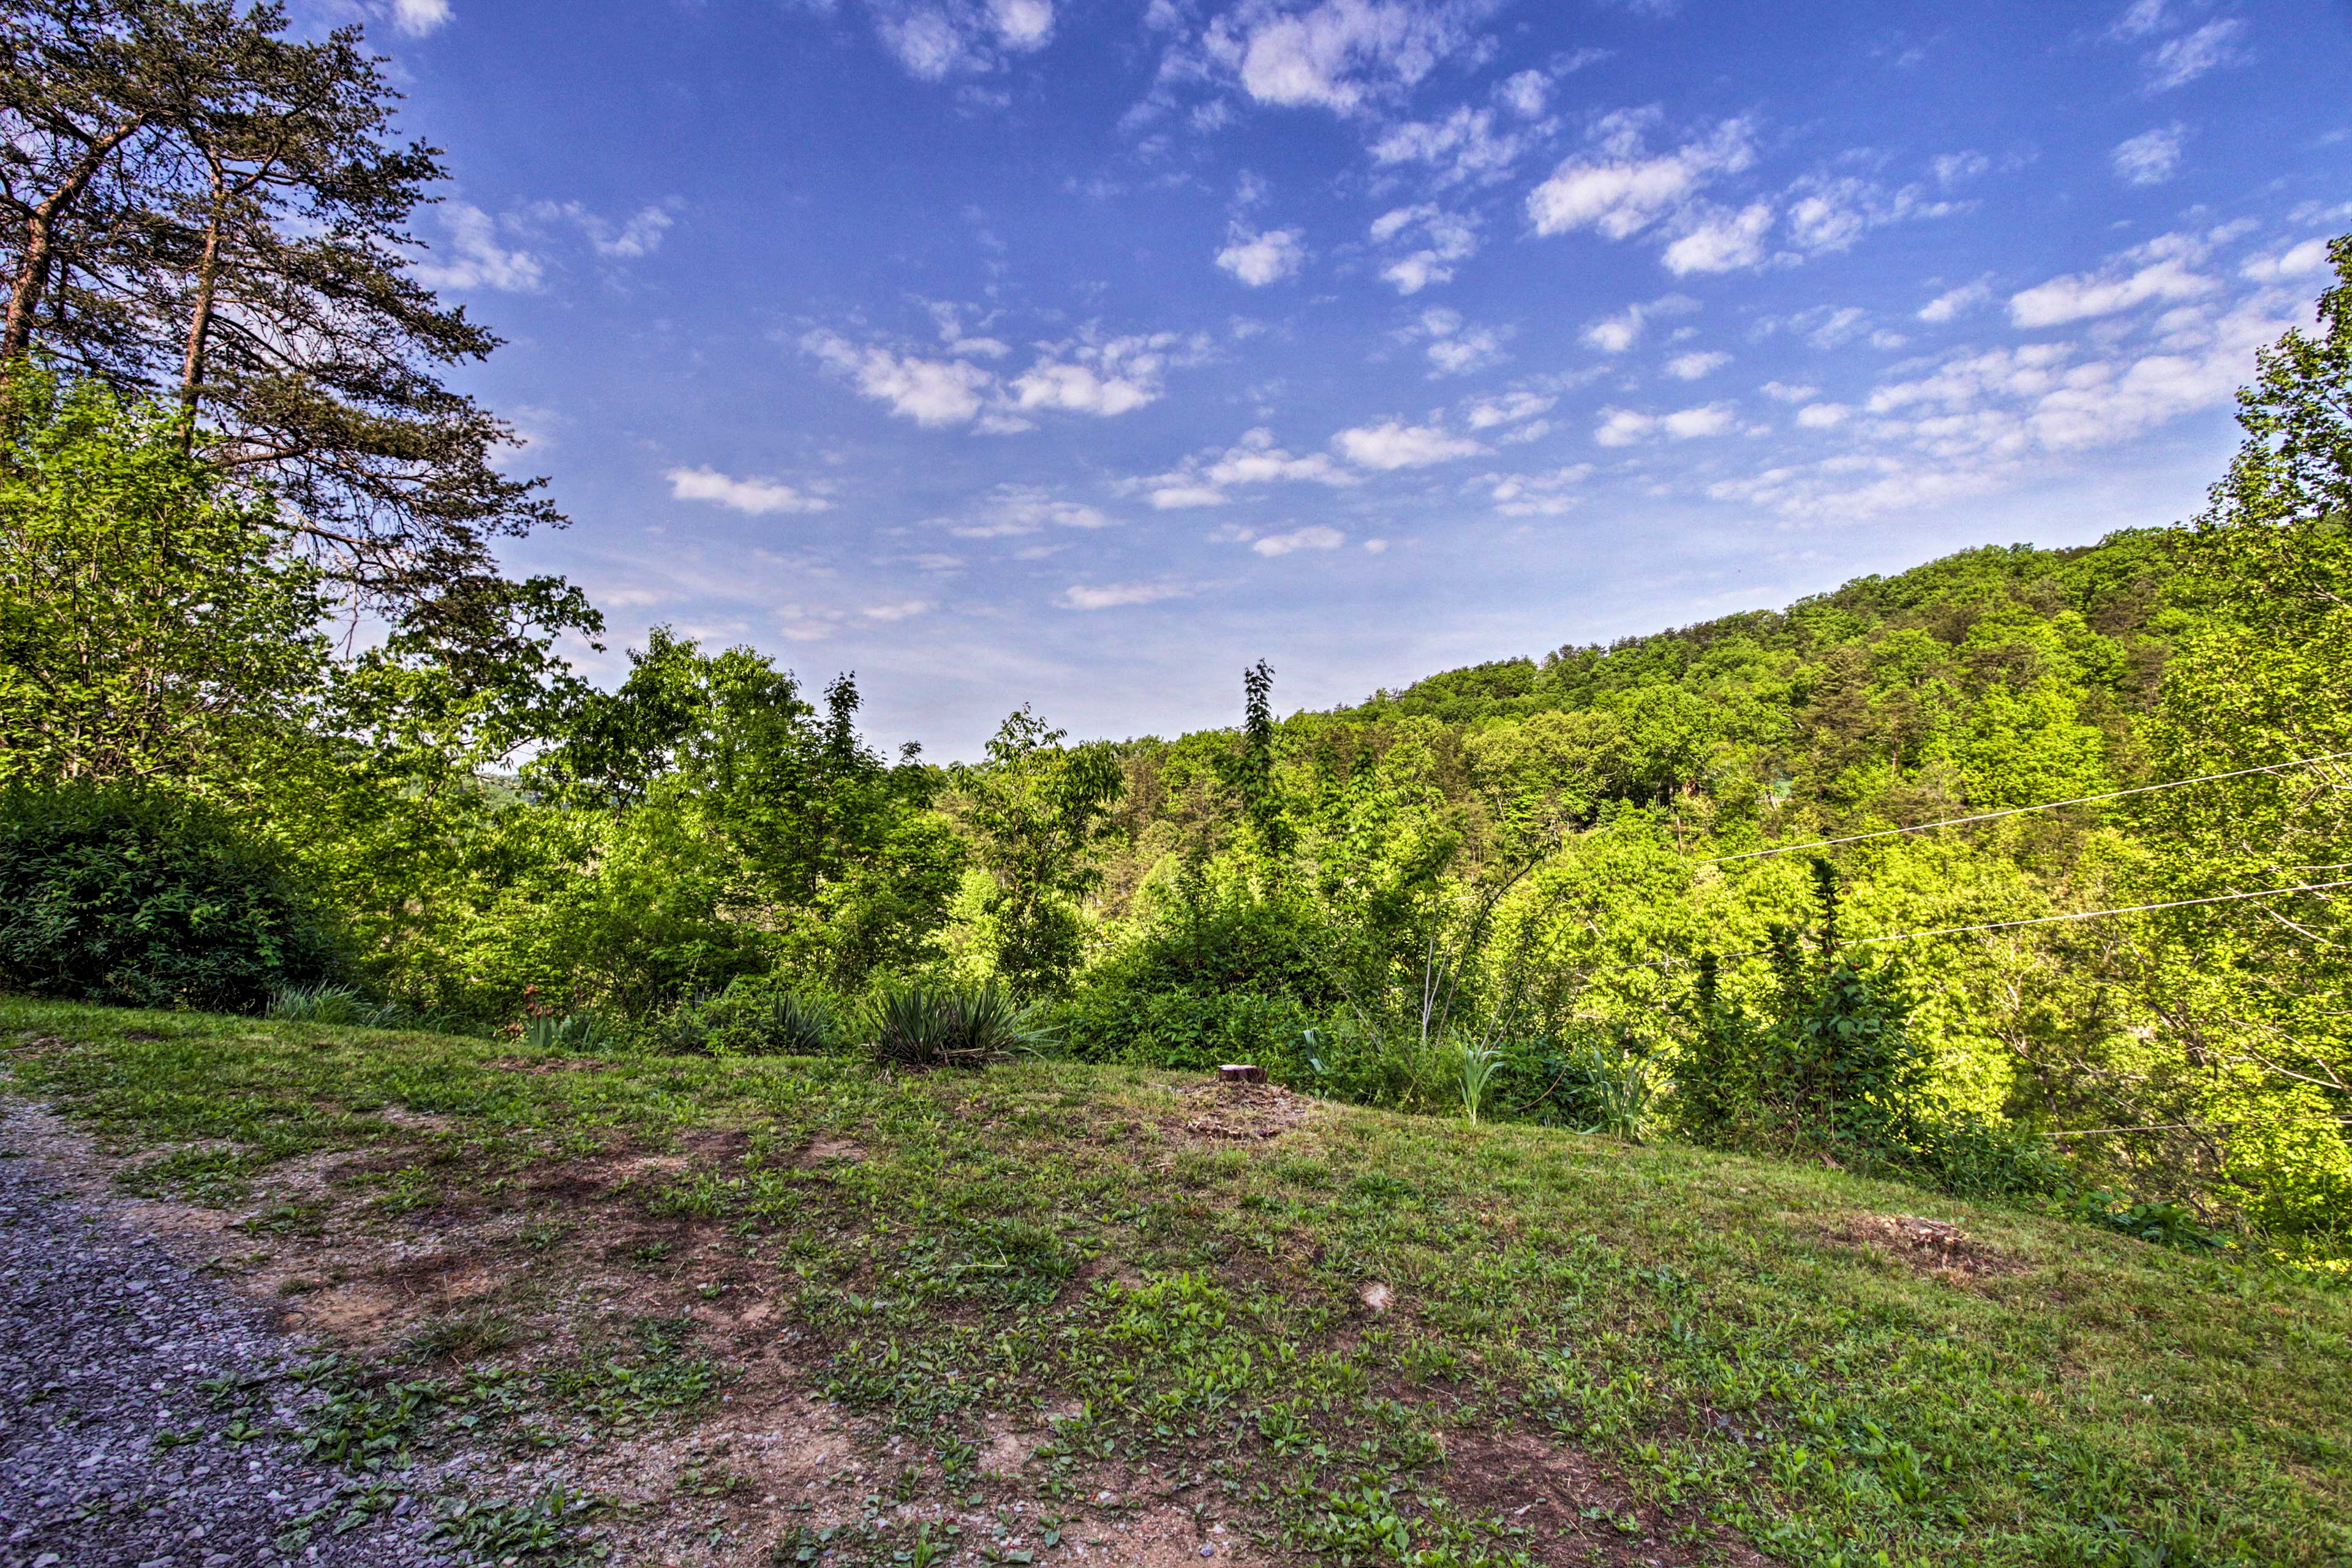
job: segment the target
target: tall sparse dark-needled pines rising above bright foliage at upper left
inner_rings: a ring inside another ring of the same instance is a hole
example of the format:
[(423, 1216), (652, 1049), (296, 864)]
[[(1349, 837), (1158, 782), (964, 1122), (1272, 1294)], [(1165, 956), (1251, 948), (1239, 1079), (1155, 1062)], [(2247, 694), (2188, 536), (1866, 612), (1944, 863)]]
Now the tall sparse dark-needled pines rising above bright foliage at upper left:
[(395, 141), (358, 28), (285, 28), (233, 0), (0, 12), (0, 376), (45, 355), (181, 407), (355, 607), (499, 677), (534, 628), (593, 623), (560, 581), (496, 569), (496, 538), (562, 517), (447, 386), (499, 339), (409, 268), (437, 150)]

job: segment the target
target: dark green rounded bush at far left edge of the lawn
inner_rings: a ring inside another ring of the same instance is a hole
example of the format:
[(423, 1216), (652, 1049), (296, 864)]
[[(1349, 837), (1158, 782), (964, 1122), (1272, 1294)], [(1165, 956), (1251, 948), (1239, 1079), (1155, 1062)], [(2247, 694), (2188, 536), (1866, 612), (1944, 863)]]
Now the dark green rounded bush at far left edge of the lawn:
[(339, 969), (308, 886), (221, 811), (134, 785), (0, 795), (0, 987), (254, 1013)]

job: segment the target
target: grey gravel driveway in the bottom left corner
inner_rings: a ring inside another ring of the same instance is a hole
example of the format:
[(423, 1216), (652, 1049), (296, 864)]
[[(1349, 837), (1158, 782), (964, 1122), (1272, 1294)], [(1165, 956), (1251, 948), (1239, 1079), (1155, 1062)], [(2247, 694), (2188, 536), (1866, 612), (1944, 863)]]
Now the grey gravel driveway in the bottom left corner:
[(426, 1474), (362, 1488), (285, 1436), (308, 1399), (285, 1368), (315, 1352), (24, 1154), (28, 1112), (0, 1110), (0, 1568), (459, 1561), (402, 1490)]

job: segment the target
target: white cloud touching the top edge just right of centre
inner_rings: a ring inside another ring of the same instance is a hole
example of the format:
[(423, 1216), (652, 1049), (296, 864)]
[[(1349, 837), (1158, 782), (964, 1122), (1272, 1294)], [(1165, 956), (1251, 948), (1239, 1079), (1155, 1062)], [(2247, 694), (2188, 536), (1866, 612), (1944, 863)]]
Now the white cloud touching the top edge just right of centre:
[(1244, 0), (1202, 35), (1202, 54), (1258, 103), (1355, 113), (1388, 99), (1470, 40), (1479, 0)]

